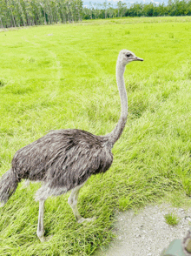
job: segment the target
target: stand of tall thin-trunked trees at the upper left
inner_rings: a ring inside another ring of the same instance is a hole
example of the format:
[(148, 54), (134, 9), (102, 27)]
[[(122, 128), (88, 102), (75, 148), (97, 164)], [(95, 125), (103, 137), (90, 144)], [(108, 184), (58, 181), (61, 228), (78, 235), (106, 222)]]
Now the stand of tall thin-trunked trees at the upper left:
[(82, 0), (0, 0), (0, 27), (76, 22)]

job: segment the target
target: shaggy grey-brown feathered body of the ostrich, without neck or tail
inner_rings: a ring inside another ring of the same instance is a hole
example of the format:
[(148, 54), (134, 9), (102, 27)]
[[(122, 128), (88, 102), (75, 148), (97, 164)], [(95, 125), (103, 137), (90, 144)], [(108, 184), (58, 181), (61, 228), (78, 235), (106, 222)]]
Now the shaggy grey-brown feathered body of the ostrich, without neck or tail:
[(92, 174), (106, 172), (112, 161), (105, 137), (77, 129), (56, 130), (18, 150), (10, 172), (17, 181), (43, 181), (38, 200), (82, 185)]

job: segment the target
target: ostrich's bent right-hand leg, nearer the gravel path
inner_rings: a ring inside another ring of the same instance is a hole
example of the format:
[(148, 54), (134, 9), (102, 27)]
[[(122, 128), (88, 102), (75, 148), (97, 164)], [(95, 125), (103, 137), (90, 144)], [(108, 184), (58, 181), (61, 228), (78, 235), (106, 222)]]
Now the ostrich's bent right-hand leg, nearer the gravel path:
[(70, 196), (69, 196), (69, 205), (71, 206), (72, 208), (72, 211), (74, 212), (74, 215), (75, 215), (75, 218), (76, 218), (76, 221), (78, 223), (82, 223), (83, 221), (91, 221), (91, 220), (94, 220), (95, 218), (88, 218), (88, 219), (84, 219), (82, 218), (82, 216), (80, 215), (80, 213), (78, 212), (78, 209), (77, 209), (77, 199), (78, 199), (78, 195), (79, 195), (79, 192), (80, 192), (80, 189), (82, 188), (82, 186), (85, 184), (85, 182), (82, 184), (82, 185), (78, 185), (76, 186), (70, 193)]

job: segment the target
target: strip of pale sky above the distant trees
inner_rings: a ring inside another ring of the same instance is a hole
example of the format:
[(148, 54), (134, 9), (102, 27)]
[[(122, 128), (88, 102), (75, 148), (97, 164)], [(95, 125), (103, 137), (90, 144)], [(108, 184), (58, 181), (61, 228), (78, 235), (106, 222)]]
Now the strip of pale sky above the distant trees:
[[(113, 6), (115, 7), (116, 6), (116, 3), (119, 1), (119, 0), (107, 0), (108, 3), (112, 3)], [(89, 2), (91, 3), (103, 3), (105, 2), (105, 0), (83, 0), (83, 6), (87, 6), (89, 7)], [(150, 3), (150, 2), (153, 2), (153, 3), (168, 3), (168, 0), (122, 0), (123, 3), (127, 3), (127, 5), (129, 4), (132, 4), (132, 3)]]

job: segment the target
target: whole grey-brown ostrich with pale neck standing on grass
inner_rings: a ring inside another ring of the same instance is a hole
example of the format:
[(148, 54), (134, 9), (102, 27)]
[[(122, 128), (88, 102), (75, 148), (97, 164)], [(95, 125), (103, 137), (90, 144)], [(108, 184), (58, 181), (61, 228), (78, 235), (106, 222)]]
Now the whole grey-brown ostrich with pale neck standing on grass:
[(0, 202), (3, 206), (16, 191), (21, 179), (41, 181), (36, 192), (39, 201), (37, 236), (44, 241), (44, 202), (49, 196), (58, 196), (71, 190), (68, 202), (76, 221), (90, 221), (81, 217), (77, 198), (82, 185), (92, 174), (106, 172), (113, 161), (111, 149), (120, 138), (128, 116), (128, 98), (124, 83), (126, 64), (143, 61), (128, 50), (119, 53), (116, 63), (116, 82), (121, 98), (121, 117), (115, 129), (105, 136), (96, 136), (77, 129), (49, 131), (42, 138), (18, 150), (11, 168), (0, 180)]

